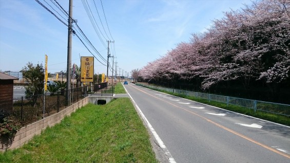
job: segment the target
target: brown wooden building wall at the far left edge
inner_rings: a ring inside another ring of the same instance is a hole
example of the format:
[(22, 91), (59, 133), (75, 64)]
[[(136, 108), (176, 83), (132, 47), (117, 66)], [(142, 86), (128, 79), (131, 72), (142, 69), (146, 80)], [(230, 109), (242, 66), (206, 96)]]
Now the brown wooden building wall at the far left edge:
[(13, 110), (13, 80), (0, 80), (0, 111)]

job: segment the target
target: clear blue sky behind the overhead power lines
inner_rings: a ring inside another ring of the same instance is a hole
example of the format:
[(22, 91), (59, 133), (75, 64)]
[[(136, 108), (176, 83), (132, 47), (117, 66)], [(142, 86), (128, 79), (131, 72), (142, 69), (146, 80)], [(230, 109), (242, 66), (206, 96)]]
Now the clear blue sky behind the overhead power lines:
[[(67, 23), (67, 17), (50, 0), (39, 0)], [(51, 7), (59, 12), (57, 14)], [(68, 11), (69, 0), (57, 0)], [(188, 42), (191, 33), (204, 32), (211, 21), (220, 19), (224, 11), (237, 10), (249, 0), (133, 1), (103, 0), (108, 31), (100, 0), (73, 0), (73, 19), (87, 38), (107, 58), (107, 47), (96, 34), (83, 2), (88, 2), (106, 40), (114, 41), (110, 53), (118, 62), (118, 71), (141, 69), (180, 42)], [(100, 18), (96, 12), (99, 11)], [(102, 27), (104, 25), (105, 31)], [(106, 33), (108, 37), (106, 37)], [(110, 37), (110, 34), (112, 38)], [(28, 62), (43, 63), (48, 55), (49, 73), (66, 70), (67, 27), (33, 0), (0, 0), (0, 71), (20, 71)], [(91, 50), (91, 48), (89, 48)], [(92, 50), (91, 50), (92, 51)], [(93, 52), (93, 51), (92, 51)], [(93, 54), (99, 59), (95, 52)], [(72, 37), (72, 64), (80, 65), (80, 56), (92, 56), (81, 41)], [(94, 60), (95, 73), (107, 67)], [(112, 63), (112, 58), (110, 58)], [(115, 67), (115, 66), (114, 66)]]

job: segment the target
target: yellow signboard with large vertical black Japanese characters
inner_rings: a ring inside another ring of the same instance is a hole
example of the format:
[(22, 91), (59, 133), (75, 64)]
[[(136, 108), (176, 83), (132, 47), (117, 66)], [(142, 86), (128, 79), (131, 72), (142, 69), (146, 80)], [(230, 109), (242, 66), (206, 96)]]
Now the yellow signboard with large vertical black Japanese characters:
[(81, 82), (93, 82), (93, 57), (81, 57)]

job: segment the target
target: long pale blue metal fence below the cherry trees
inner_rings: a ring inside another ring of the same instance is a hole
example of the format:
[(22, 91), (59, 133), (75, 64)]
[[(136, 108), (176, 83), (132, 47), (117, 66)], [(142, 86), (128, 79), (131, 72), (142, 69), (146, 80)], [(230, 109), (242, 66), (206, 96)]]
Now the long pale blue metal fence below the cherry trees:
[(165, 88), (165, 87), (147, 85), (147, 84), (145, 85), (145, 84), (141, 84), (141, 83), (136, 83), (136, 84), (140, 85), (140, 86), (144, 86), (144, 87), (149, 87), (152, 89), (164, 90), (166, 92), (172, 92), (173, 94), (197, 97), (197, 98), (207, 99), (209, 101), (217, 101), (217, 102), (226, 103), (227, 105), (232, 104), (232, 105), (242, 106), (242, 107), (246, 107), (246, 108), (251, 108), (254, 111), (258, 110), (258, 111), (263, 111), (263, 112), (284, 115), (284, 116), (288, 116), (288, 117), (290, 116), (290, 105), (287, 105), (287, 104), (249, 100), (249, 99), (220, 96), (220, 95), (212, 95), (212, 94), (205, 94), (205, 93), (199, 93), (199, 92), (190, 92), (187, 90)]

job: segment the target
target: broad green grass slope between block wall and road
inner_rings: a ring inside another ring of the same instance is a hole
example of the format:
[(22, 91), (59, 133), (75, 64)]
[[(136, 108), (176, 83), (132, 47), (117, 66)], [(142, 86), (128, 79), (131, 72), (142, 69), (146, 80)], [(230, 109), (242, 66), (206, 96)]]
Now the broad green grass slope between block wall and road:
[(0, 162), (158, 162), (129, 98), (88, 104)]

